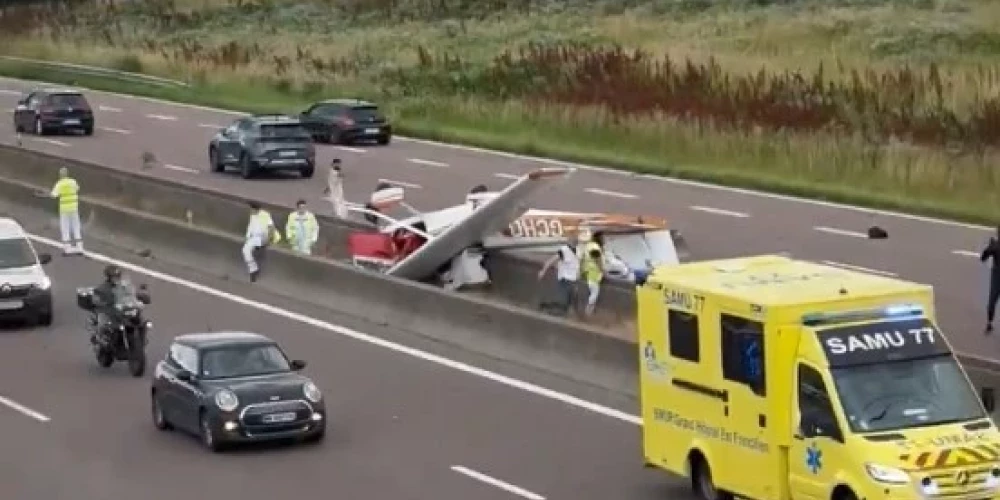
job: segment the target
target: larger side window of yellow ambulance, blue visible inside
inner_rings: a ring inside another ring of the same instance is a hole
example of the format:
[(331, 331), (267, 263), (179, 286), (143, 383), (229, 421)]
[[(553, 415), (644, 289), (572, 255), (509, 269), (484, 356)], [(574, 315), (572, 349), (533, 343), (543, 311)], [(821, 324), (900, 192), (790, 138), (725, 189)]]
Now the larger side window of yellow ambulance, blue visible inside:
[(760, 322), (719, 315), (722, 330), (722, 376), (746, 384), (754, 394), (767, 395), (764, 363), (764, 325)]

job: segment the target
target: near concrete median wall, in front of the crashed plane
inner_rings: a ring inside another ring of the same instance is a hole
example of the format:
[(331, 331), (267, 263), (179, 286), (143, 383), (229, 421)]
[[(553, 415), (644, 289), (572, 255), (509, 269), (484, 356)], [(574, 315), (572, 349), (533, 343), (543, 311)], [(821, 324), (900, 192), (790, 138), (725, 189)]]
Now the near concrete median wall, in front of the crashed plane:
[[(0, 165), (6, 163), (0, 158)], [(83, 172), (77, 172), (81, 183), (99, 180)], [(109, 191), (120, 188), (112, 183), (100, 186)], [(52, 200), (37, 191), (37, 183), (0, 178), (0, 200), (9, 216), (31, 212), (35, 217), (39, 213), (54, 217)], [(118, 200), (82, 198), (87, 238), (131, 250), (153, 248), (158, 260), (214, 276), (245, 276), (239, 257), (242, 238), (236, 234), (135, 210)], [(266, 259), (265, 271), (254, 286), (270, 292), (615, 393), (636, 394), (635, 344), (598, 329), (281, 248), (270, 249)]]

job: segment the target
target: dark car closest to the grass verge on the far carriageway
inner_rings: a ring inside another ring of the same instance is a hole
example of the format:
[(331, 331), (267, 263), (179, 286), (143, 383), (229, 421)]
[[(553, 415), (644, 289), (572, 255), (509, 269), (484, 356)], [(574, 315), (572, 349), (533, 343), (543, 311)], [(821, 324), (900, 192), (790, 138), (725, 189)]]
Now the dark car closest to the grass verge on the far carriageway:
[(354, 99), (331, 99), (318, 102), (303, 111), (299, 120), (319, 142), (353, 144), (375, 141), (389, 144), (392, 124), (370, 102)]

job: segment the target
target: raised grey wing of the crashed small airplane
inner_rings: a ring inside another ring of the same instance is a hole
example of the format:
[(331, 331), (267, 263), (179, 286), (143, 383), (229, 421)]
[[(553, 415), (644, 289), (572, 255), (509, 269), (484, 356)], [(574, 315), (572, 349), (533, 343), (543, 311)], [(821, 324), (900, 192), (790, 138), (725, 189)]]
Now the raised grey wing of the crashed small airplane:
[(528, 202), (539, 192), (551, 189), (567, 179), (576, 169), (542, 168), (514, 181), (499, 195), (478, 206), (468, 217), (424, 243), (388, 274), (411, 280), (423, 280), (437, 272), (466, 248), (504, 230), (528, 211)]

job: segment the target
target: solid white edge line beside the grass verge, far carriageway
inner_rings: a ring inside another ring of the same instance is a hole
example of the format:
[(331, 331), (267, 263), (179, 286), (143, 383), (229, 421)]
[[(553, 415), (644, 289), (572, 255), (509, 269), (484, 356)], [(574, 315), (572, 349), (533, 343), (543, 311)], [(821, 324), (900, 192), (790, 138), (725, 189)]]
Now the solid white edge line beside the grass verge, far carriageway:
[[(39, 81), (39, 80), (22, 80), (22, 79), (18, 79), (18, 78), (9, 78), (9, 77), (0, 77), (0, 80), (7, 80), (7, 81), (11, 81), (11, 82), (18, 82), (21, 85), (24, 85), (24, 84), (36, 84), (36, 85), (37, 84), (46, 84), (46, 85), (51, 85), (52, 84), (52, 82), (43, 82), (43, 81)], [(165, 100), (165, 99), (157, 99), (155, 97), (144, 97), (144, 96), (135, 96), (135, 95), (128, 95), (128, 94), (120, 94), (120, 93), (116, 93), (116, 92), (107, 92), (107, 91), (96, 90), (96, 89), (87, 89), (87, 90), (90, 91), (90, 92), (92, 92), (92, 93), (94, 93), (94, 94), (103, 94), (103, 95), (115, 97), (115, 98), (118, 98), (118, 99), (129, 99), (129, 100), (134, 100), (134, 101), (143, 101), (143, 102), (148, 102), (148, 103), (153, 103), (153, 104), (159, 104), (161, 106), (171, 106), (171, 107), (175, 107), (175, 108), (184, 108), (184, 109), (195, 109), (195, 110), (199, 110), (199, 111), (208, 111), (208, 112), (211, 112), (211, 113), (219, 113), (219, 114), (224, 114), (224, 115), (228, 115), (228, 116), (249, 116), (247, 113), (244, 113), (242, 111), (233, 111), (233, 110), (230, 110), (230, 109), (213, 108), (213, 107), (209, 107), (209, 106), (200, 106), (198, 104), (188, 104), (188, 103), (183, 103), (183, 102), (168, 101), (168, 100)], [(22, 92), (16, 92), (16, 91), (7, 91), (7, 92), (10, 92), (12, 94), (17, 94), (17, 95), (21, 95), (22, 94)], [(524, 160), (524, 161), (531, 161), (531, 162), (535, 162), (535, 163), (543, 163), (543, 164), (548, 164), (548, 165), (553, 165), (553, 166), (572, 167), (572, 168), (578, 168), (580, 170), (590, 170), (590, 171), (594, 171), (594, 172), (602, 172), (602, 173), (605, 173), (605, 174), (614, 175), (614, 176), (618, 176), (618, 177), (629, 177), (629, 178), (631, 178), (631, 177), (635, 177), (636, 176), (632, 172), (627, 172), (627, 171), (622, 171), (622, 170), (616, 170), (616, 169), (607, 168), (607, 167), (598, 167), (598, 166), (595, 166), (595, 165), (585, 165), (583, 163), (575, 163), (575, 162), (564, 161), (564, 160), (554, 160), (552, 158), (541, 158), (541, 157), (538, 157), (538, 156), (530, 156), (530, 155), (523, 155), (523, 154), (518, 154), (518, 153), (510, 153), (510, 152), (507, 152), (507, 151), (497, 151), (497, 150), (493, 150), (493, 149), (480, 148), (480, 147), (476, 147), (476, 146), (466, 146), (464, 144), (448, 144), (448, 143), (444, 143), (444, 142), (431, 141), (431, 140), (428, 140), (428, 139), (417, 139), (415, 137), (406, 137), (406, 136), (402, 136), (402, 135), (394, 135), (393, 138), (394, 139), (398, 139), (398, 140), (403, 141), (403, 142), (412, 142), (412, 143), (416, 143), (416, 144), (425, 144), (425, 145), (428, 145), (428, 146), (434, 146), (434, 147), (439, 147), (439, 148), (457, 149), (459, 151), (467, 151), (467, 152), (471, 152), (471, 153), (489, 154), (489, 155), (493, 155), (493, 156), (501, 156), (501, 157), (504, 157), (504, 158), (511, 158), (511, 159)], [(893, 211), (893, 210), (880, 210), (880, 209), (876, 209), (876, 208), (859, 207), (859, 206), (854, 206), (854, 205), (847, 205), (847, 204), (844, 204), (844, 203), (837, 203), (837, 202), (833, 202), (833, 201), (811, 200), (809, 198), (802, 198), (802, 197), (792, 196), (792, 195), (787, 195), (787, 194), (768, 193), (768, 192), (765, 192), (765, 191), (756, 191), (756, 190), (753, 190), (753, 189), (737, 188), (737, 187), (732, 187), (732, 186), (721, 186), (721, 185), (718, 185), (718, 184), (708, 184), (708, 183), (705, 183), (705, 182), (698, 182), (698, 181), (692, 181), (692, 180), (687, 180), (687, 179), (675, 179), (675, 178), (671, 178), (671, 177), (660, 177), (660, 176), (646, 176), (646, 177), (649, 178), (649, 179), (656, 180), (658, 182), (665, 182), (667, 184), (675, 184), (675, 185), (678, 185), (678, 186), (696, 187), (696, 188), (708, 189), (708, 190), (712, 190), (712, 191), (723, 191), (723, 192), (727, 192), (727, 193), (737, 193), (737, 194), (743, 194), (743, 195), (748, 195), (748, 196), (755, 196), (757, 198), (768, 198), (768, 199), (772, 199), (772, 200), (789, 201), (789, 202), (792, 202), (792, 203), (802, 203), (802, 204), (805, 204), (805, 205), (813, 205), (813, 206), (818, 206), (818, 207), (835, 208), (835, 209), (838, 209), (838, 210), (848, 210), (848, 211), (852, 211), (852, 212), (860, 212), (860, 213), (867, 214), (867, 215), (873, 215), (873, 214), (874, 215), (883, 215), (883, 216), (888, 216), (888, 217), (896, 217), (896, 218), (899, 218), (899, 219), (906, 219), (906, 220), (912, 220), (912, 221), (917, 221), (917, 222), (925, 222), (925, 223), (929, 223), (929, 224), (938, 224), (938, 225), (942, 225), (942, 226), (961, 227), (961, 228), (964, 228), (964, 229), (975, 229), (975, 230), (979, 230), (979, 231), (996, 231), (995, 227), (983, 226), (981, 224), (970, 224), (970, 223), (967, 223), (967, 222), (958, 222), (958, 221), (953, 221), (953, 220), (940, 219), (940, 218), (936, 218), (936, 217), (928, 217), (928, 216), (925, 216), (925, 215), (907, 214), (907, 213), (903, 213), (903, 212), (896, 212), (896, 211)]]

